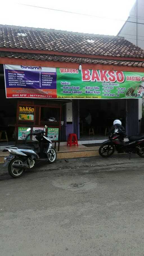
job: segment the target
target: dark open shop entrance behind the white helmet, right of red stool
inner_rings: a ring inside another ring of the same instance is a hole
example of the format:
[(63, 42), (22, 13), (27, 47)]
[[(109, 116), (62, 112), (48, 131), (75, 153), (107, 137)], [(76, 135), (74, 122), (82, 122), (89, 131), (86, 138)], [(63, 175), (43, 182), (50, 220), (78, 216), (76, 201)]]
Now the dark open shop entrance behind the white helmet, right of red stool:
[[(80, 139), (107, 138), (109, 129), (115, 119), (120, 119), (126, 126), (125, 99), (113, 100), (79, 100)], [(87, 125), (86, 117), (91, 115), (91, 124)], [(94, 134), (92, 132), (94, 130)], [(89, 129), (91, 134), (89, 135)]]

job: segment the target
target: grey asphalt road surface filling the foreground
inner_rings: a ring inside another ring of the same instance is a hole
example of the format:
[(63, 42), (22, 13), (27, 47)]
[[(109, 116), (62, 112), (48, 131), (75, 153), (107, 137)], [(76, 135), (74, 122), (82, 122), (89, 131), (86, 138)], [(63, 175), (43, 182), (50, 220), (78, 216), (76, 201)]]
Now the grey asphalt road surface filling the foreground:
[(144, 255), (143, 163), (0, 181), (1, 256)]

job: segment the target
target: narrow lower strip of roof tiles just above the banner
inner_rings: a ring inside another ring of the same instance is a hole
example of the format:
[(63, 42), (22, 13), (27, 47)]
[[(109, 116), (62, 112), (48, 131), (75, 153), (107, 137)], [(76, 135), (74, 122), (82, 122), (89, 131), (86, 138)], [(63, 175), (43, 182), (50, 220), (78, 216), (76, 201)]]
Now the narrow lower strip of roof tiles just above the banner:
[(92, 63), (92, 64), (104, 64), (114, 66), (133, 66), (144, 67), (143, 61), (128, 61), (128, 60), (108, 60), (108, 59), (95, 59), (84, 57), (73, 57), (63, 55), (51, 55), (51, 54), (35, 54), (35, 53), (18, 53), (9, 51), (0, 51), (0, 57), (19, 58), (19, 59), (34, 59), (34, 60), (48, 60), (59, 62), (71, 62), (71, 63)]

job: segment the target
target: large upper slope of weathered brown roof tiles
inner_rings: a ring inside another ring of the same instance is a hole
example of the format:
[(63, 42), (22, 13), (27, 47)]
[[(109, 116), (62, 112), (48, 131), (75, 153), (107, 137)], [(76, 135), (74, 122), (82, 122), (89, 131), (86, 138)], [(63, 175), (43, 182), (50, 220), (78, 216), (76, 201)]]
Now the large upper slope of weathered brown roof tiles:
[(144, 58), (144, 50), (118, 36), (0, 25), (0, 47)]

